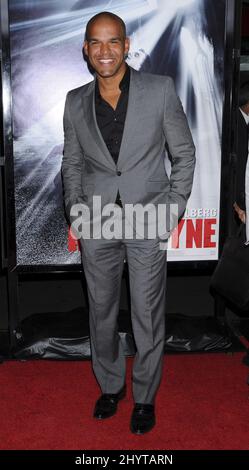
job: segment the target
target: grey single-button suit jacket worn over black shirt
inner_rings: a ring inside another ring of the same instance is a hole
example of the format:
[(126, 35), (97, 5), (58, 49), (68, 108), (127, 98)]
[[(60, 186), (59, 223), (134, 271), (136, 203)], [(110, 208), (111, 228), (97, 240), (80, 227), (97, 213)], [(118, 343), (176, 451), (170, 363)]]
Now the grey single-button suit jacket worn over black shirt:
[[(124, 204), (176, 203), (186, 208), (195, 166), (195, 147), (181, 102), (170, 77), (131, 68), (129, 101), (117, 166), (95, 115), (95, 80), (71, 90), (64, 112), (62, 176), (66, 213), (73, 204), (114, 203), (119, 190)], [(167, 144), (172, 157), (168, 178)]]

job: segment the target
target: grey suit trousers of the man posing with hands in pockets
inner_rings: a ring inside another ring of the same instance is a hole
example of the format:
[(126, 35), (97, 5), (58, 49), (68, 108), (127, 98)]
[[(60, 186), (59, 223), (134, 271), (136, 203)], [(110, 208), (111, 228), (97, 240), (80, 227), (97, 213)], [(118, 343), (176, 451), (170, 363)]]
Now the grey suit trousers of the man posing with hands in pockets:
[(165, 337), (166, 252), (158, 239), (81, 240), (89, 297), (92, 366), (102, 393), (117, 393), (126, 364), (118, 334), (124, 259), (131, 293), (137, 352), (133, 363), (136, 403), (154, 403), (162, 374)]

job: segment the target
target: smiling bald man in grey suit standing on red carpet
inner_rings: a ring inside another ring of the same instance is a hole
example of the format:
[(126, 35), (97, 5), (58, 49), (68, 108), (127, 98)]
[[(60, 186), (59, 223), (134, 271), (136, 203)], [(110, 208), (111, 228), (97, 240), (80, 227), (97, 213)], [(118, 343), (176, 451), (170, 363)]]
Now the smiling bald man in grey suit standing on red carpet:
[[(195, 148), (173, 82), (128, 67), (128, 50), (121, 18), (109, 12), (91, 18), (84, 53), (95, 79), (68, 93), (64, 113), (62, 176), (71, 222), (81, 204), (94, 218), (95, 196), (101, 197), (103, 208), (113, 203), (121, 214), (119, 222), (127, 218), (132, 222), (126, 215), (131, 205), (147, 208), (149, 215), (152, 207), (174, 204), (180, 217), (191, 192)], [(164, 166), (165, 146), (171, 154), (170, 178)], [(177, 221), (175, 218), (174, 225)], [(99, 419), (114, 415), (126, 393), (117, 317), (124, 259), (128, 263), (137, 348), (130, 429), (136, 434), (155, 425), (164, 352), (166, 253), (160, 250), (158, 235), (148, 236), (149, 225), (144, 219), (142, 231), (140, 223), (138, 229), (132, 229), (132, 236), (123, 228), (121, 235), (112, 238), (98, 230), (96, 235), (95, 230), (95, 236), (80, 240), (89, 296), (92, 365), (102, 391), (94, 409), (94, 417)]]

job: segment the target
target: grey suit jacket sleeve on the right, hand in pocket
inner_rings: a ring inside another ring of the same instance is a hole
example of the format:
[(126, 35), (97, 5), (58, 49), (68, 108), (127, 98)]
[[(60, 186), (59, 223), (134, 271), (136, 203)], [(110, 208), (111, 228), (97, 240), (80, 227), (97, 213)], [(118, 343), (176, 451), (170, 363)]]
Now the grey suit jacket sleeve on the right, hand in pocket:
[(195, 168), (195, 146), (173, 80), (168, 77), (164, 106), (164, 135), (171, 154), (169, 204), (178, 205), (178, 216), (186, 209)]

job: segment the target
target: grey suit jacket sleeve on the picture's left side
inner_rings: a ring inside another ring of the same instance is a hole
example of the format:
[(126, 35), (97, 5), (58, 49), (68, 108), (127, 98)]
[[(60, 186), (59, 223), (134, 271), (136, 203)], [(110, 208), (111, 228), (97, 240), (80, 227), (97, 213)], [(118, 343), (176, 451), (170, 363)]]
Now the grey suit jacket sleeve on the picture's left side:
[(64, 117), (64, 152), (62, 158), (62, 182), (66, 215), (70, 221), (70, 210), (73, 204), (83, 202), (82, 172), (83, 149), (78, 141), (70, 116), (70, 94), (67, 95)]

